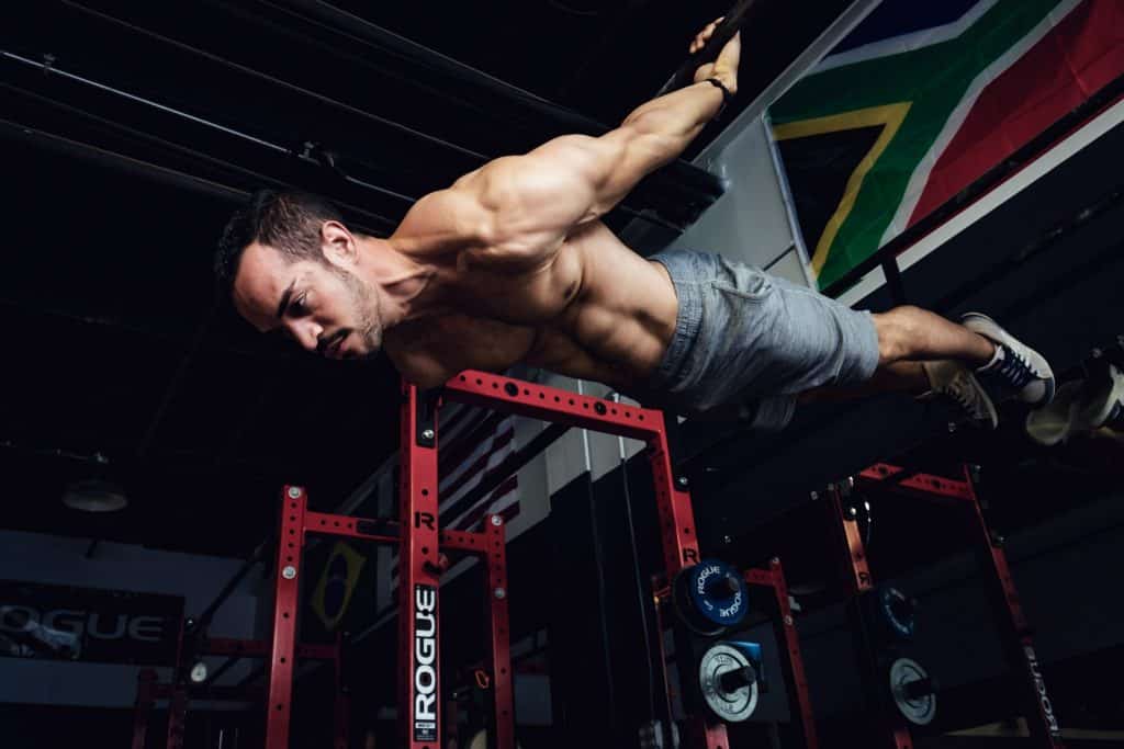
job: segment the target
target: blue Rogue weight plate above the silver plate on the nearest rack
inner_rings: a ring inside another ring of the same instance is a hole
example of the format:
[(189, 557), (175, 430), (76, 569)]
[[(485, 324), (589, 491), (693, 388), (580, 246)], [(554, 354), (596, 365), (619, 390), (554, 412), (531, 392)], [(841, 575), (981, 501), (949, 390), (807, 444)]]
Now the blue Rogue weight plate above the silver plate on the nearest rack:
[(683, 622), (695, 632), (720, 634), (745, 619), (749, 588), (736, 567), (704, 560), (676, 576), (673, 601)]

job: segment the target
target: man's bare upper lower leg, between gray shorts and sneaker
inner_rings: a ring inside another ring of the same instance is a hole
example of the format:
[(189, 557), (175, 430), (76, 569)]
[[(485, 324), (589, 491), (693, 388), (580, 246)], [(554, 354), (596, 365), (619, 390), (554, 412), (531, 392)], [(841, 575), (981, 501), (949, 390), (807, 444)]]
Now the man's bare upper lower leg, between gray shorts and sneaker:
[(976, 368), (995, 356), (995, 344), (984, 336), (917, 307), (897, 307), (873, 318), (880, 369), (895, 362), (936, 359), (955, 359)]

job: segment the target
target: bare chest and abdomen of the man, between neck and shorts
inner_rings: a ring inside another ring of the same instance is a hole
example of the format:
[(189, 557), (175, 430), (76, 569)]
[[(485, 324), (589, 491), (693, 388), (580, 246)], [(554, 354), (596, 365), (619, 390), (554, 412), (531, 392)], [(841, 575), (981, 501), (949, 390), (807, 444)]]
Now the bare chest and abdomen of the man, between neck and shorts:
[(663, 267), (625, 247), (599, 221), (579, 227), (553, 261), (513, 275), (468, 267), (455, 254), (435, 272), (418, 314), (386, 331), (383, 349), (424, 387), (462, 369), (524, 362), (622, 387), (659, 364), (676, 327)]

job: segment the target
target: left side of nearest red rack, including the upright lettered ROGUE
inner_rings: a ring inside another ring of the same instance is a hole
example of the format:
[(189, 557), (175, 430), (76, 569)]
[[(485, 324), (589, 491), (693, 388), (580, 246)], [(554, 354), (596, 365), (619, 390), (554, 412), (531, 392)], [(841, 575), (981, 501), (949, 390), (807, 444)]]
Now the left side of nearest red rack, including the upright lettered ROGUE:
[[(453, 395), (445, 389), (442, 395)], [(441, 400), (404, 385), (401, 413), (401, 486), (399, 521), (364, 520), (308, 510), (299, 486), (285, 486), (270, 659), (266, 749), (288, 749), (293, 655), (299, 611), (301, 556), (309, 535), (341, 536), (400, 549), (399, 574), (399, 720), (406, 745), (438, 749), (442, 740), (438, 588), (443, 551), (481, 559), (487, 568), (484, 600), (489, 612), (489, 674), (495, 703), (497, 747), (515, 747), (515, 715), (509, 655), (507, 552), (505, 522), (486, 519), (480, 532), (441, 530), (437, 526), (437, 431)], [(450, 399), (452, 400), (452, 399)]]

